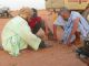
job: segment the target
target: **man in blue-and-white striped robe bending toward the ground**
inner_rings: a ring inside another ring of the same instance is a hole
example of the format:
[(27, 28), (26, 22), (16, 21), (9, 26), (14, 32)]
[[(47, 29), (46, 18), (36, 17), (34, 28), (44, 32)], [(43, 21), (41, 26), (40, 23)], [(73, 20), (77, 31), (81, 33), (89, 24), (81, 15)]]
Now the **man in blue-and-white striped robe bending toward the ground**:
[(89, 32), (89, 24), (87, 20), (76, 11), (69, 11), (67, 8), (60, 9), (60, 15), (67, 20), (65, 25), (65, 34), (62, 41), (65, 44), (71, 44), (76, 40), (76, 32), (79, 32), (83, 37), (87, 36)]

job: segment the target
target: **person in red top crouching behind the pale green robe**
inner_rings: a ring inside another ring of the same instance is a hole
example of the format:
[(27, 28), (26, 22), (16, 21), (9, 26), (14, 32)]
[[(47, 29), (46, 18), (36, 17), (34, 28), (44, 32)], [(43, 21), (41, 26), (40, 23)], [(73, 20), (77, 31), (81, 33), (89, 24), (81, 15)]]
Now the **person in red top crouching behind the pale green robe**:
[(33, 14), (28, 20), (28, 24), (31, 28), (32, 33), (37, 34), (40, 29), (44, 31), (44, 22), (40, 16), (38, 16), (38, 12), (36, 9), (32, 9), (32, 11), (33, 11)]

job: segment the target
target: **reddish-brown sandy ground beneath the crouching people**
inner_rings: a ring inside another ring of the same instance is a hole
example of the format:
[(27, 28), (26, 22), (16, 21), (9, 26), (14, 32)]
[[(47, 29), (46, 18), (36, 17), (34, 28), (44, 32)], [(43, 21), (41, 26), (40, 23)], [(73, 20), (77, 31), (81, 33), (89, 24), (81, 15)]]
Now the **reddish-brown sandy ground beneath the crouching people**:
[[(0, 33), (9, 19), (0, 19)], [(21, 51), (18, 57), (10, 56), (0, 50), (0, 66), (86, 66), (75, 54), (73, 47), (59, 44), (56, 41), (46, 41), (49, 48)]]

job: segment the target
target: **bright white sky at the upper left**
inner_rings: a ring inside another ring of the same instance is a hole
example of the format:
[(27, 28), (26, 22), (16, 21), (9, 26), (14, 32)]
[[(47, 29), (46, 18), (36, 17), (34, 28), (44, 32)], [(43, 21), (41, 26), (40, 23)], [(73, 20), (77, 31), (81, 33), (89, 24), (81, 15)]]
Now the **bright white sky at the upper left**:
[(46, 9), (44, 3), (44, 0), (0, 0), (0, 6), (9, 7), (11, 10), (18, 10), (22, 7)]

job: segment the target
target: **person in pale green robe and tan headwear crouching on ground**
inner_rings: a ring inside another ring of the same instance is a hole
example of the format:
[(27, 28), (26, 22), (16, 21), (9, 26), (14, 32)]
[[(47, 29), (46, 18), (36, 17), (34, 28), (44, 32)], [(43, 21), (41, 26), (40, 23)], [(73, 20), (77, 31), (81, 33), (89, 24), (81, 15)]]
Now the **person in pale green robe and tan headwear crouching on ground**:
[(28, 19), (31, 18), (32, 10), (22, 8), (19, 15), (10, 20), (3, 28), (1, 38), (2, 47), (12, 56), (18, 56), (21, 50), (30, 46), (34, 51), (46, 47), (41, 38), (36, 36), (28, 25)]

